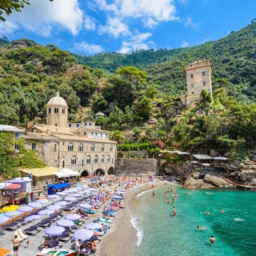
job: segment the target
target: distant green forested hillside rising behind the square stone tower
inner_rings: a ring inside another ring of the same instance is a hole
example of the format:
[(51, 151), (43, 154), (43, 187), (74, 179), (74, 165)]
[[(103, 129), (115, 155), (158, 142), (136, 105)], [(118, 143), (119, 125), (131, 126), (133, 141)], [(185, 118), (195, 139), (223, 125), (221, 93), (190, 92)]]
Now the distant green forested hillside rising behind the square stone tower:
[(184, 66), (198, 59), (209, 59), (213, 71), (213, 89), (226, 87), (237, 99), (256, 101), (256, 23), (218, 41), (182, 49), (140, 50), (131, 54), (104, 53), (75, 55), (78, 63), (115, 71), (122, 66), (146, 69), (149, 81), (168, 94), (185, 90)]

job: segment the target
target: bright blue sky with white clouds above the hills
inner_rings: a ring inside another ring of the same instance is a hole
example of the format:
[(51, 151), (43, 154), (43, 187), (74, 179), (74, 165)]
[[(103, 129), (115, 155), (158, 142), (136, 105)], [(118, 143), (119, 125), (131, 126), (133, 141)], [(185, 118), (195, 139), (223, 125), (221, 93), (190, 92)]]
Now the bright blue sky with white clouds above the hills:
[(215, 41), (256, 18), (255, 0), (30, 0), (0, 22), (9, 41), (32, 39), (85, 55), (175, 49)]

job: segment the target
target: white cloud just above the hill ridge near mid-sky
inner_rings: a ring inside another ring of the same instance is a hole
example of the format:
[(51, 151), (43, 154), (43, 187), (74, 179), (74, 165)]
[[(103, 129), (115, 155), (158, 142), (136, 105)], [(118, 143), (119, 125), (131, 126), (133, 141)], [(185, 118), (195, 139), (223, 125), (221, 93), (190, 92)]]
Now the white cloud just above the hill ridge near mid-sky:
[(123, 41), (120, 53), (129, 53), (131, 51), (137, 51), (140, 49), (148, 50), (149, 45), (154, 46), (153, 41), (146, 42), (147, 39), (152, 36), (151, 33), (142, 33), (131, 36), (129, 40)]

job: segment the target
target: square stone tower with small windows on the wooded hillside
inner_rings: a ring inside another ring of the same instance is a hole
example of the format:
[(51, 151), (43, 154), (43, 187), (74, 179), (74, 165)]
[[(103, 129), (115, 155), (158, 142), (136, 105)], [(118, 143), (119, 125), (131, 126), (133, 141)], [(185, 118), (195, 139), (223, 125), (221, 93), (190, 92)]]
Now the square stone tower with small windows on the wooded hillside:
[(209, 60), (195, 61), (185, 66), (187, 78), (186, 104), (200, 99), (203, 89), (212, 95), (211, 63)]

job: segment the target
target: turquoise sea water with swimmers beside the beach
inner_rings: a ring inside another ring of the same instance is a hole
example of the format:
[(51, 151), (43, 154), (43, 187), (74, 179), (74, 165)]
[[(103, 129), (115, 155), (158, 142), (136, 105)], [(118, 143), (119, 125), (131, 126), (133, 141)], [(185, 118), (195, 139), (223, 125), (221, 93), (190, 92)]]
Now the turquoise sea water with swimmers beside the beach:
[[(152, 191), (139, 195), (130, 207), (132, 224), (138, 229), (138, 256), (256, 255), (255, 192), (174, 189), (179, 196), (174, 204), (166, 203), (167, 189), (163, 187), (155, 189), (154, 197)], [(169, 198), (171, 201), (170, 193)], [(173, 205), (177, 217), (173, 217)], [(220, 213), (222, 208), (226, 213)], [(205, 211), (213, 215), (203, 214)], [(198, 225), (209, 230), (198, 230)], [(211, 235), (216, 239), (213, 246)]]

